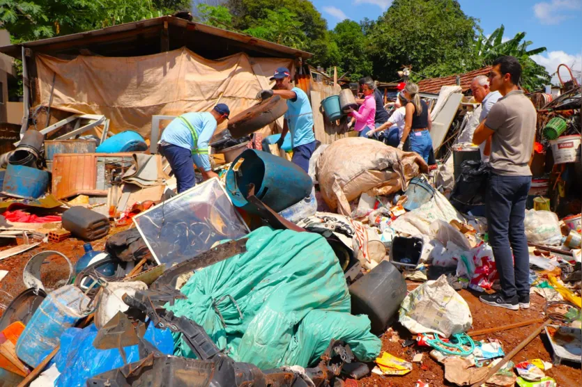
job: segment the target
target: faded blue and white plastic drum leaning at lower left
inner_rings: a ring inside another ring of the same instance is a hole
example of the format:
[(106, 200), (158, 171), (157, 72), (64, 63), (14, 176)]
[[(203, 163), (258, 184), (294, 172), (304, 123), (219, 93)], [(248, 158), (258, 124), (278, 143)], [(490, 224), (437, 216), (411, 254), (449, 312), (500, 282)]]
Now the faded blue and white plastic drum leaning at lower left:
[(84, 308), (89, 306), (90, 301), (73, 285), (65, 285), (50, 292), (18, 338), (18, 358), (36, 367), (44, 356), (59, 345), (63, 332), (86, 316)]

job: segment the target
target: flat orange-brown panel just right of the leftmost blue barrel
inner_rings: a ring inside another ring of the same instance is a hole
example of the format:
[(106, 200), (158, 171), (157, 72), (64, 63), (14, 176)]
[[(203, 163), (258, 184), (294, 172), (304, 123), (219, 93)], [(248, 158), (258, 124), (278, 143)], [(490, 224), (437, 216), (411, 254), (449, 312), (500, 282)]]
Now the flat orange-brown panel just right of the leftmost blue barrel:
[(60, 200), (95, 191), (97, 156), (96, 153), (54, 155), (52, 164), (54, 197)]

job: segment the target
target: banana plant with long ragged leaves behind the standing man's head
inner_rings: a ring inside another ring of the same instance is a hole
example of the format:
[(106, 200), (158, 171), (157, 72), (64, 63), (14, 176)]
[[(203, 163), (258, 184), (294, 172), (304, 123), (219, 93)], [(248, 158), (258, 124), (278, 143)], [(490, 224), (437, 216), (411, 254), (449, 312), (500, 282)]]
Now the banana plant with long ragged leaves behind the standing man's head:
[(551, 77), (546, 71), (546, 68), (538, 65), (531, 58), (532, 55), (545, 52), (546, 47), (529, 49), (528, 47), (533, 45), (533, 42), (523, 40), (526, 37), (525, 32), (516, 33), (512, 39), (503, 42), (503, 33), (505, 33), (505, 26), (502, 24), (491, 33), (489, 38), (484, 36), (483, 33), (480, 34), (479, 38), (475, 41), (473, 52), (477, 63), (480, 66), (491, 65), (500, 56), (515, 56), (523, 68), (521, 87), (528, 91), (534, 91), (549, 84)]

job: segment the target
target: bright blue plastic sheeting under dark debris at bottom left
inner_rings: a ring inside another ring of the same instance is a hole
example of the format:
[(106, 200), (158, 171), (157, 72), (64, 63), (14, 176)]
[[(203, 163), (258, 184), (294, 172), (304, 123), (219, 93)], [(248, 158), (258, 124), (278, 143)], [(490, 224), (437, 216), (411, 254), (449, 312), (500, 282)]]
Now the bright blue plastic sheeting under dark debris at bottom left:
[[(84, 329), (69, 328), (61, 335), (61, 349), (54, 358), (61, 375), (56, 379), (56, 387), (82, 387), (86, 380), (116, 368), (123, 367), (119, 349), (96, 349), (93, 340), (97, 336), (95, 324)], [(144, 335), (163, 354), (174, 352), (174, 341), (169, 329), (162, 331), (149, 324)], [(124, 347), (128, 363), (139, 360), (137, 345)]]

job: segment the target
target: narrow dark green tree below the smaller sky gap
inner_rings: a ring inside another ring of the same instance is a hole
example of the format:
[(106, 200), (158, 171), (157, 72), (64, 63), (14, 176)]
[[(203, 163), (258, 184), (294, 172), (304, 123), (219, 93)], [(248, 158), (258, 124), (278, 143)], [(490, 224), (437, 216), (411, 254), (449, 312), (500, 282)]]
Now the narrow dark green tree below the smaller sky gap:
[[(338, 65), (350, 73), (352, 80), (372, 75), (372, 61), (366, 53), (367, 40), (362, 25), (346, 19), (336, 24), (330, 36), (339, 58), (331, 58), (328, 52), (328, 65)], [(339, 47), (342, 47), (341, 52)]]

